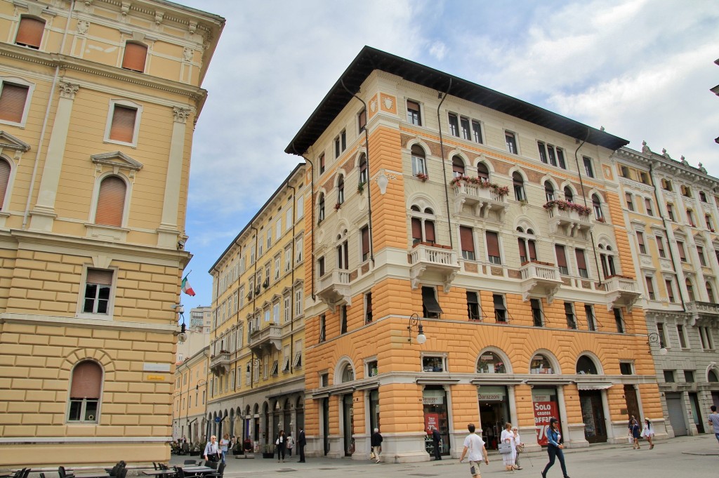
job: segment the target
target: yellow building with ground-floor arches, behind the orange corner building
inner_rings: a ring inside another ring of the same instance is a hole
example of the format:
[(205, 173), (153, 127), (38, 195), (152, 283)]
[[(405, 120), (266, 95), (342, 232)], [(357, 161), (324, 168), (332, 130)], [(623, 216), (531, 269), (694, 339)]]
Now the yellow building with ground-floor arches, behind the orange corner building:
[(304, 423), (304, 203), (301, 164), (209, 271), (210, 433), (265, 446)]

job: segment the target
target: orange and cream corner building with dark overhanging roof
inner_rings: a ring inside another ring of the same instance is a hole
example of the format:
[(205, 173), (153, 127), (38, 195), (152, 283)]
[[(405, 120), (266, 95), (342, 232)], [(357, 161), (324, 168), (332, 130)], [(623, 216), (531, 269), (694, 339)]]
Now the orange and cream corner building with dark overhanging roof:
[[(459, 456), (666, 436), (620, 188), (626, 140), (365, 47), (288, 145), (308, 162), (308, 453)], [(345, 88), (346, 87), (346, 88)], [(438, 98), (439, 96), (439, 98)]]

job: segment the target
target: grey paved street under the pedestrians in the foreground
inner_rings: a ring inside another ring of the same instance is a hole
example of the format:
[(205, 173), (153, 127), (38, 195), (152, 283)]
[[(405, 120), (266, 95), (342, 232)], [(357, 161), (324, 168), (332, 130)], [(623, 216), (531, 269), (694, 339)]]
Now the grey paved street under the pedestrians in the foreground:
[[(626, 476), (651, 476), (652, 478), (715, 477), (719, 466), (719, 443), (712, 435), (674, 438), (659, 441), (654, 450), (646, 443), (641, 450), (630, 445), (595, 445), (589, 449), (566, 451), (567, 472), (572, 478), (606, 478)], [(261, 456), (261, 455), (260, 455)], [(171, 464), (181, 464), (187, 456), (173, 456)], [(306, 463), (296, 463), (297, 457), (285, 463), (277, 459), (228, 459), (225, 470), (227, 478), (272, 476), (286, 472), (293, 477), (342, 478), (366, 477), (468, 477), (469, 466), (459, 464), (458, 459), (426, 461), (418, 464), (374, 464), (371, 461), (352, 459), (310, 458)], [(546, 453), (528, 454), (521, 458), (523, 470), (515, 472), (514, 478), (537, 478), (546, 464)], [(502, 459), (490, 454), (489, 466), (482, 466), (482, 477), (505, 475)], [(547, 474), (560, 478), (559, 461)]]

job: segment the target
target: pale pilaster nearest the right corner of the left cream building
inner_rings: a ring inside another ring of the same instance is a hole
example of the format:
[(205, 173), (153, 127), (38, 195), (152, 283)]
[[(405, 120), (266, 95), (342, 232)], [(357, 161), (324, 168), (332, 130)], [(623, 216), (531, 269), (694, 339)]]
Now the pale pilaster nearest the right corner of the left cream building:
[(185, 154), (185, 131), (190, 109), (173, 108), (175, 122), (173, 136), (170, 139), (170, 157), (168, 157), (168, 174), (165, 178), (165, 197), (162, 200), (162, 219), (157, 228), (157, 245), (159, 247), (177, 247), (178, 242), (178, 209), (180, 208), (180, 183), (182, 180), (183, 156)]

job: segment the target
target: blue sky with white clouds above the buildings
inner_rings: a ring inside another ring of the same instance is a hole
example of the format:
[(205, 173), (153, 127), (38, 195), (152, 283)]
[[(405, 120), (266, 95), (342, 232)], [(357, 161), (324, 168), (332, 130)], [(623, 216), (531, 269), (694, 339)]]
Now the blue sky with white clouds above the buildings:
[(299, 157), (283, 152), (364, 45), (457, 75), (719, 176), (715, 0), (175, 0), (226, 18), (205, 78), (187, 249), (209, 268)]

